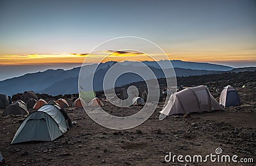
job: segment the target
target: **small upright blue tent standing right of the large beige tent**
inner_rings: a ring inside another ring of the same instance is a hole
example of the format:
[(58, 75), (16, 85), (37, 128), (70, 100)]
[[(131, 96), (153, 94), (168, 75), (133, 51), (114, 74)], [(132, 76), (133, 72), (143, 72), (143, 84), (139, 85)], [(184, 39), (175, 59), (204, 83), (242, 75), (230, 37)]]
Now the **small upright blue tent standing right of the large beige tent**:
[(241, 100), (236, 89), (232, 86), (226, 86), (220, 94), (220, 105), (223, 107), (241, 105)]

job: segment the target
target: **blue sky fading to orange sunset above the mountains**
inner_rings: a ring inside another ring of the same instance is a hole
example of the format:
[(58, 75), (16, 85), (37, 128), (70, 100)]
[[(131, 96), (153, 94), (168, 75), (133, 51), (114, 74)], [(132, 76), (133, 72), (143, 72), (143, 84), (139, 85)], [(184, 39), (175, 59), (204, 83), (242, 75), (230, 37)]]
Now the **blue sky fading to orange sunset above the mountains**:
[(14, 75), (79, 66), (120, 36), (153, 41), (170, 59), (256, 66), (256, 1), (1, 0), (0, 22), (0, 68)]

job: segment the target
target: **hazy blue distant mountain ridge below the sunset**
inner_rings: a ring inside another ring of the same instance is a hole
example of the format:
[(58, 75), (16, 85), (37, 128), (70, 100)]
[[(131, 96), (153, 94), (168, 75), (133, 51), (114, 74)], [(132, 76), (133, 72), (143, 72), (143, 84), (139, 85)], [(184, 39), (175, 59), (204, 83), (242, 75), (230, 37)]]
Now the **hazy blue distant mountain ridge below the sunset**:
[[(175, 69), (177, 76), (189, 76), (189, 75), (205, 75), (210, 73), (218, 73), (223, 71), (232, 71), (234, 68), (229, 66), (223, 66), (218, 64), (209, 63), (192, 63), (184, 61), (171, 61)], [(164, 77), (163, 70), (156, 62), (144, 61), (148, 67), (155, 73), (157, 78)], [(159, 61), (163, 68), (168, 68), (168, 61)], [(95, 77), (99, 84), (102, 84), (105, 73), (108, 69), (116, 64), (115, 61), (107, 63), (100, 63)], [(86, 70), (92, 70), (93, 67), (98, 64), (90, 64), (86, 67)], [(145, 67), (136, 62), (124, 62), (120, 63), (127, 68), (134, 68), (134, 70), (145, 70)], [(130, 65), (130, 66), (129, 66)], [(214, 70), (211, 70), (213, 68)], [(57, 94), (70, 94), (77, 93), (78, 91), (78, 76), (80, 68), (73, 68), (72, 70), (47, 70), (45, 72), (29, 73), (13, 79), (7, 79), (0, 81), (0, 93), (12, 95), (16, 93), (23, 93), (24, 91), (33, 90), (36, 93), (47, 93), (52, 95)], [(83, 75), (85, 78), (90, 78), (92, 75)], [(141, 78), (138, 75), (124, 75), (121, 79), (116, 80), (116, 86), (122, 86), (131, 82), (140, 81)], [(102, 86), (97, 86), (95, 89), (101, 90)]]

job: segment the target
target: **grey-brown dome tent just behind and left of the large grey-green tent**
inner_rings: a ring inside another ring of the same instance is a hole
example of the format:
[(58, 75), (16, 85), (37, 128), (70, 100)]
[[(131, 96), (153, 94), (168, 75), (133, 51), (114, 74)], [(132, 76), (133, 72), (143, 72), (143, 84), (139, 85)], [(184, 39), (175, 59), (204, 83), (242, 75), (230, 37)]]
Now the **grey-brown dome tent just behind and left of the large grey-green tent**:
[(28, 115), (28, 109), (22, 102), (15, 102), (6, 107), (2, 116), (8, 115)]

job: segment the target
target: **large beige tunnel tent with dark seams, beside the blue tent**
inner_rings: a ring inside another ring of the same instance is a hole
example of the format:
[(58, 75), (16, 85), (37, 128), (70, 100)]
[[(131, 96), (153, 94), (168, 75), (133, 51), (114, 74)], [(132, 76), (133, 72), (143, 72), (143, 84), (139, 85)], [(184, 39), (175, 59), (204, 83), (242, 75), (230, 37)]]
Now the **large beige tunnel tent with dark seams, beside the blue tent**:
[(196, 86), (172, 94), (167, 105), (160, 113), (170, 116), (189, 112), (211, 112), (212, 110), (223, 110), (223, 108), (206, 86)]

